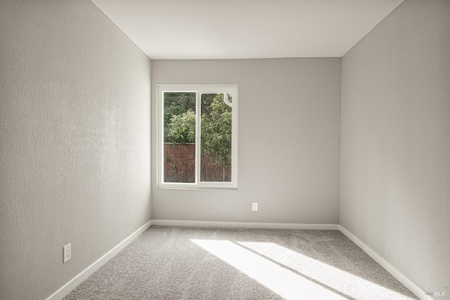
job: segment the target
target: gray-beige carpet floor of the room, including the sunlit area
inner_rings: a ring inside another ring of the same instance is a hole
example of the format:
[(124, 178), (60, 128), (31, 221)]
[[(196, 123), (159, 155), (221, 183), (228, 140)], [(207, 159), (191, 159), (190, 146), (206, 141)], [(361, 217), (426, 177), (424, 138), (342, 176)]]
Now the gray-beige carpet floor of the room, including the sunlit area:
[(151, 226), (72, 299), (418, 299), (337, 230)]

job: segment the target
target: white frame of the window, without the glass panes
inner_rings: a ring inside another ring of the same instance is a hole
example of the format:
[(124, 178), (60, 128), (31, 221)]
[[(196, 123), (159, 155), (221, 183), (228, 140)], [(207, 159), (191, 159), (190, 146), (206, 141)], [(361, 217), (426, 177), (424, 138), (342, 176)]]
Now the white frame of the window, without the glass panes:
[[(164, 101), (163, 92), (195, 92), (195, 183), (164, 182)], [(202, 93), (233, 94), (231, 115), (231, 182), (200, 181), (201, 105)], [(157, 85), (157, 187), (181, 189), (238, 189), (238, 86), (236, 84), (158, 84)]]

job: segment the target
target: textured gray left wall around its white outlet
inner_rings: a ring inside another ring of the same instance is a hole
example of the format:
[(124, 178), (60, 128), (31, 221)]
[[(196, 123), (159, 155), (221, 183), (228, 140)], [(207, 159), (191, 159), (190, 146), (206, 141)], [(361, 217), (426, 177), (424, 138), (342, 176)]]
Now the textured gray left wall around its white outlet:
[(88, 0), (0, 32), (0, 299), (45, 299), (150, 220), (150, 60)]

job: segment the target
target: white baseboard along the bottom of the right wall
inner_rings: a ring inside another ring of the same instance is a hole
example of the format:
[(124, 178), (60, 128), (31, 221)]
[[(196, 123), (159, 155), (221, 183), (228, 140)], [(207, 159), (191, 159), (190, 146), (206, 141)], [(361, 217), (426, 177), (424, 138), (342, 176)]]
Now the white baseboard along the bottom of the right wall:
[(352, 234), (347, 230), (344, 226), (340, 225), (339, 230), (341, 233), (343, 233), (346, 237), (349, 238), (352, 242), (354, 242), (359, 248), (361, 248), (364, 252), (368, 254), (368, 256), (371, 256), (371, 258), (376, 261), (380, 266), (382, 266), (387, 272), (389, 272), (394, 278), (399, 280), (407, 289), (409, 289), (413, 294), (418, 296), (419, 299), (422, 300), (434, 300), (431, 296), (428, 296), (425, 294), (425, 291), (423, 289), (420, 289), (417, 285), (414, 284), (411, 280), (406, 278), (405, 275), (401, 274), (399, 270), (394, 268), (390, 263), (385, 261), (383, 257), (378, 255), (371, 247), (368, 247), (366, 243), (359, 240), (356, 235)]

